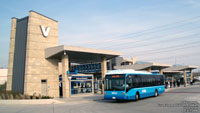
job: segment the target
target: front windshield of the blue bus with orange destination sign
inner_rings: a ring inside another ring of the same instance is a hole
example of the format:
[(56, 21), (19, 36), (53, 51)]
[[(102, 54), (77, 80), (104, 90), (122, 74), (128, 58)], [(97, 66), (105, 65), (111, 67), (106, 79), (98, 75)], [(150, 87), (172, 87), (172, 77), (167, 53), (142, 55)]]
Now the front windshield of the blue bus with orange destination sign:
[(106, 75), (105, 91), (123, 91), (125, 90), (125, 75), (115, 74)]

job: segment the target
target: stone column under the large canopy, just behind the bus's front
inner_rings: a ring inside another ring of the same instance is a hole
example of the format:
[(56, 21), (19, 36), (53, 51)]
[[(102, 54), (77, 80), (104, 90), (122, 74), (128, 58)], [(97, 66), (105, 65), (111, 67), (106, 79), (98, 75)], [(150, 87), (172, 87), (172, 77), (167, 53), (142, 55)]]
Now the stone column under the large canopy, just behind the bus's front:
[[(101, 62), (101, 78), (102, 78), (102, 81), (105, 78), (106, 72), (107, 72), (106, 58), (102, 58), (102, 62)], [(103, 83), (102, 83), (102, 91), (101, 91), (101, 93), (104, 94), (104, 84)]]

